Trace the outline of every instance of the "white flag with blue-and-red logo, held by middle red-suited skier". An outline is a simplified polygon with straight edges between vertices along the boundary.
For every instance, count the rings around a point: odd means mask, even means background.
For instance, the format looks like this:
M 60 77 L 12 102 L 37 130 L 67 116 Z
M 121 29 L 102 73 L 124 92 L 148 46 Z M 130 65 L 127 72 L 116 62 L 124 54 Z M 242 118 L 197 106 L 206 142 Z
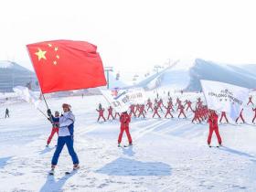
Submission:
M 126 112 L 131 104 L 144 104 L 145 92 L 142 88 L 120 90 L 101 90 L 104 98 L 112 105 L 115 112 Z

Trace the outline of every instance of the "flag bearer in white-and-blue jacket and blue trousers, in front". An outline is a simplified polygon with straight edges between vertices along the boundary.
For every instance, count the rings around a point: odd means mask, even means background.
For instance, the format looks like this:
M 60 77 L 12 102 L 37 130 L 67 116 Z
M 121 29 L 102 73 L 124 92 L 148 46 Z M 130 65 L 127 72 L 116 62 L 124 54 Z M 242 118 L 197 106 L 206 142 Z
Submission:
M 73 161 L 73 170 L 80 168 L 80 161 L 73 147 L 75 116 L 70 111 L 70 107 L 67 103 L 62 104 L 64 113 L 59 117 L 59 138 L 57 148 L 51 160 L 50 174 L 54 173 L 55 167 L 58 164 L 59 155 L 65 144 Z M 50 110 L 48 110 L 48 113 L 50 113 Z

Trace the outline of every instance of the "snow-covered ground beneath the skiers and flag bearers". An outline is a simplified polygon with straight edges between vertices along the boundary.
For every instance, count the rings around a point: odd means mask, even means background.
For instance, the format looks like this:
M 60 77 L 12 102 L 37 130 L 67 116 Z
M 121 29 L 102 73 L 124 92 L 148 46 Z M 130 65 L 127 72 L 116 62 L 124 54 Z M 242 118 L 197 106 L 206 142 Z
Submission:
M 177 95 L 174 95 L 176 99 Z M 178 94 L 196 101 L 196 93 Z M 75 148 L 80 170 L 72 167 L 67 148 L 59 158 L 55 176 L 48 176 L 56 136 L 46 148 L 51 130 L 48 120 L 25 102 L 1 104 L 9 119 L 0 119 L 0 191 L 256 191 L 256 126 L 251 106 L 247 124 L 220 124 L 225 147 L 208 148 L 208 125 L 187 119 L 133 119 L 133 147 L 118 148 L 117 121 L 96 123 L 101 96 L 53 98 L 54 112 L 69 102 L 76 115 Z M 45 112 L 42 103 L 41 109 Z M 162 114 L 162 113 L 161 113 Z M 163 116 L 163 114 L 162 114 Z M 127 144 L 123 134 L 123 144 Z M 216 145 L 213 136 L 212 144 Z

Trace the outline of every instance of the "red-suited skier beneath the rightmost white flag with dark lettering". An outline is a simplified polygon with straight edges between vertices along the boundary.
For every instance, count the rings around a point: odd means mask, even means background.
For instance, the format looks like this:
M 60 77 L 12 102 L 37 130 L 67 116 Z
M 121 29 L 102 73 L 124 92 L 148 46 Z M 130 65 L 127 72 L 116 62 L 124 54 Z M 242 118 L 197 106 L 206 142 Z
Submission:
M 219 126 L 218 126 L 218 114 L 210 110 L 209 116 L 208 116 L 208 124 L 209 124 L 209 133 L 208 133 L 208 146 L 211 147 L 211 136 L 212 133 L 215 132 L 216 136 L 218 138 L 219 146 L 222 144 L 222 140 L 219 134 Z

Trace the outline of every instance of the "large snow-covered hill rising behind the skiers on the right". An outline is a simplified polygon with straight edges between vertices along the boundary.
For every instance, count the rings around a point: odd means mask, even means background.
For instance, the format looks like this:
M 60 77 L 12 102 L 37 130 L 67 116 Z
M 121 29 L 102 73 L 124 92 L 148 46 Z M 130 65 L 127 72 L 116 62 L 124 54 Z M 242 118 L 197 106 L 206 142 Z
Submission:
M 216 80 L 255 89 L 255 72 L 256 65 L 252 64 L 238 67 L 195 59 L 194 63 L 177 63 L 176 67 L 164 69 L 133 87 L 144 87 L 146 90 L 157 88 L 169 91 L 201 91 L 200 80 Z

